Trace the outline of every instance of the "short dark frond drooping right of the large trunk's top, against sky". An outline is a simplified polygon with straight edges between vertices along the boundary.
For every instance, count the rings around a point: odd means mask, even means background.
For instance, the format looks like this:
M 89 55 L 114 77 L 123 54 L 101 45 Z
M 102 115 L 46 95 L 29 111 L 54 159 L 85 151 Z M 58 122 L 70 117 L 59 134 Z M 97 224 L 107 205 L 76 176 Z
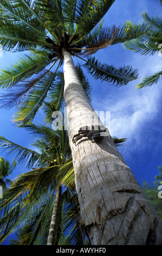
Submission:
M 89 57 L 83 66 L 95 79 L 106 81 L 116 86 L 122 86 L 138 78 L 138 71 L 133 70 L 128 65 L 123 68 L 114 68 L 112 65 L 101 64 L 95 57 Z

